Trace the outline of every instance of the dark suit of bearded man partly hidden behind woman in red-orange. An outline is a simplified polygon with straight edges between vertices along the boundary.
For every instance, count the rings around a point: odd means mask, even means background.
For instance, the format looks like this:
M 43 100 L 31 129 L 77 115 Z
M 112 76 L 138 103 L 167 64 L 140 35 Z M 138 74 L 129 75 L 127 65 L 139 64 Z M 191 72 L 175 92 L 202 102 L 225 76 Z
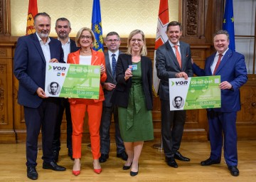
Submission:
M 77 51 L 79 47 L 75 45 L 75 41 L 70 39 L 70 53 Z M 60 98 L 60 112 L 58 114 L 58 120 L 55 126 L 55 132 L 53 137 L 53 152 L 58 155 L 60 151 L 60 125 L 63 120 L 63 112 L 65 109 L 65 118 L 67 121 L 67 148 L 69 149 L 69 154 L 72 156 L 72 120 L 70 113 L 70 103 L 66 98 Z

